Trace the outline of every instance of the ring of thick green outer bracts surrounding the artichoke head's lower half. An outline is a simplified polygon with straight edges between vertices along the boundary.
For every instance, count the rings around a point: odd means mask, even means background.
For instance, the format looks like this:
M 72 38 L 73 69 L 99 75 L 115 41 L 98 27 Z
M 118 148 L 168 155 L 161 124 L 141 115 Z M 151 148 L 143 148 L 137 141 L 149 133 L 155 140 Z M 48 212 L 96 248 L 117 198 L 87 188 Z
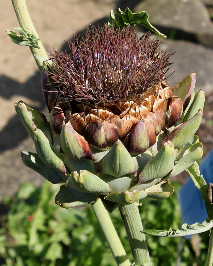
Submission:
M 177 96 L 166 110 L 168 119 L 161 111 L 155 112 L 155 116 L 148 113 L 146 116 L 149 120 L 143 120 L 143 116 L 138 129 L 135 126 L 129 137 L 127 136 L 128 145 L 119 137 L 120 130 L 113 145 L 105 149 L 94 148 L 90 140 L 87 141 L 80 134 L 72 119 L 67 121 L 66 113 L 60 113 L 63 108 L 55 108 L 56 111 L 59 110 L 57 115 L 63 118 L 63 122 L 61 129 L 54 131 L 57 123 L 53 109 L 49 124 L 43 114 L 20 101 L 15 109 L 25 129 L 34 138 L 37 151 L 37 154 L 23 151 L 23 162 L 51 183 L 64 183 L 56 195 L 56 204 L 64 208 L 92 203 L 98 197 L 109 211 L 113 211 L 120 204 L 131 204 L 144 197 L 165 199 L 173 193 L 173 186 L 168 179 L 202 157 L 202 144 L 194 134 L 202 118 L 204 93 L 199 91 L 192 98 L 194 83 L 195 74 L 192 73 L 174 86 Z M 177 99 L 181 99 L 181 105 Z M 178 121 L 171 115 L 172 110 L 177 110 L 177 103 L 180 107 Z M 152 117 L 156 119 L 156 115 L 158 120 L 162 116 L 165 118 L 165 121 L 164 118 L 162 120 L 164 126 L 157 130 L 154 122 L 152 124 Z M 90 119 L 94 117 L 90 116 Z M 173 119 L 176 119 L 176 124 L 169 127 Z M 82 123 L 83 121 L 86 120 L 82 120 Z M 111 126 L 110 115 L 108 121 L 108 126 Z M 146 123 L 149 127 L 145 128 Z M 98 121 L 96 125 L 101 128 Z M 111 129 L 115 132 L 114 127 Z M 107 127 L 101 129 L 98 136 L 104 139 L 106 131 Z M 110 138 L 110 131 L 107 132 L 107 138 Z M 139 153 L 139 150 L 144 152 Z

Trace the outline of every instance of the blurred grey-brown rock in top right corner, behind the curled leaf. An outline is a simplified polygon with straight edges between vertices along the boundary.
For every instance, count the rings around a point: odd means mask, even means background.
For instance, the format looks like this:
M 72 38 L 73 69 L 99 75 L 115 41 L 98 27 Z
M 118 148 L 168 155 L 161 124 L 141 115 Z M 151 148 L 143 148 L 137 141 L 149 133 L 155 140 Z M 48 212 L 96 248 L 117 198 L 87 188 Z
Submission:
M 134 12 L 146 11 L 149 22 L 168 37 L 197 41 L 213 47 L 213 24 L 202 1 L 145 0 Z

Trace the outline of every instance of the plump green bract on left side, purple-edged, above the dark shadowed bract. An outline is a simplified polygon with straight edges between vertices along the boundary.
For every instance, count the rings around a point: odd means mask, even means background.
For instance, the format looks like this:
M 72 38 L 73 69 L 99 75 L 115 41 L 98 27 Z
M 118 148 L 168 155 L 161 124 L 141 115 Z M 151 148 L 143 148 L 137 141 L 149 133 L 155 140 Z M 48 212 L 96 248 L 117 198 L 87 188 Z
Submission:
M 49 167 L 56 168 L 65 174 L 66 169 L 61 156 L 53 148 L 44 133 L 40 129 L 34 131 L 35 149 L 39 158 Z

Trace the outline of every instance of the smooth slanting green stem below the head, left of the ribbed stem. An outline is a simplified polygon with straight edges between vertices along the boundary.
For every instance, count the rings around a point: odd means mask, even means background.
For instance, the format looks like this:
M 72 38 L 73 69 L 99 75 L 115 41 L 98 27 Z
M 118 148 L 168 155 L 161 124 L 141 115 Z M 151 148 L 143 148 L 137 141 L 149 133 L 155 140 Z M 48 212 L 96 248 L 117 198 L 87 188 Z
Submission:
M 103 234 L 108 242 L 111 249 L 113 257 L 119 266 L 130 266 L 131 263 L 126 256 L 126 252 L 121 244 L 118 234 L 113 226 L 110 216 L 103 206 L 100 199 L 97 199 L 92 204 L 92 209 L 94 210 L 95 216 L 100 224 Z

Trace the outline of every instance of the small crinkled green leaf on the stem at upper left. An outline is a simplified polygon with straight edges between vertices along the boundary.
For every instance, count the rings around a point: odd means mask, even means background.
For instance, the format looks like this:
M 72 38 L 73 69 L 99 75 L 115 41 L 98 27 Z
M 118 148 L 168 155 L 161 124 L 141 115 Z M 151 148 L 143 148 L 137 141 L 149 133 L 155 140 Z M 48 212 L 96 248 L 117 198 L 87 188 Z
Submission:
M 9 35 L 11 38 L 12 42 L 21 45 L 21 46 L 29 46 L 33 48 L 38 48 L 38 41 L 40 40 L 39 38 L 36 38 L 35 35 L 30 34 L 27 30 L 24 30 L 23 28 L 16 27 L 14 30 L 17 30 L 20 35 L 15 33 L 13 30 L 6 30 L 6 34 Z

